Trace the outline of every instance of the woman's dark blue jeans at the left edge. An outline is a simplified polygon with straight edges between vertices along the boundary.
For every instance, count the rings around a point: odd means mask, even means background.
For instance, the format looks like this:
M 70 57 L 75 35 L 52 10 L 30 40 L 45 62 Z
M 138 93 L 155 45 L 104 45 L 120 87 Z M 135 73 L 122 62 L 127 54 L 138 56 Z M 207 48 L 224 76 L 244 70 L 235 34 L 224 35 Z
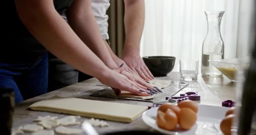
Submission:
M 14 90 L 15 102 L 46 93 L 48 54 L 21 55 L 0 61 L 0 87 Z

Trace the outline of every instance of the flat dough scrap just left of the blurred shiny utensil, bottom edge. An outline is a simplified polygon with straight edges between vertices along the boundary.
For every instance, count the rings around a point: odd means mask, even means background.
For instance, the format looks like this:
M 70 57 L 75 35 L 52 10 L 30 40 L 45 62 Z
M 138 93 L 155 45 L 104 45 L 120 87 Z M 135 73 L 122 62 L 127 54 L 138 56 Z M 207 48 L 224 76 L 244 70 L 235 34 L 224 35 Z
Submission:
M 83 130 L 82 129 L 66 128 L 61 125 L 55 129 L 55 132 L 57 134 L 62 134 L 62 135 L 76 135 L 76 134 L 82 134 Z

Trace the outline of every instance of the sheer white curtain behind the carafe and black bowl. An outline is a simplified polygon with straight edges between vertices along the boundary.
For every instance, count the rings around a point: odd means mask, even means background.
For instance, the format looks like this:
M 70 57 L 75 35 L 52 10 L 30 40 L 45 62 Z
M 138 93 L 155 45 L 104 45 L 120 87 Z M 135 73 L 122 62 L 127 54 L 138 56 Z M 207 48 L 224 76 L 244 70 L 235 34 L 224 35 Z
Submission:
M 180 59 L 198 59 L 200 72 L 207 34 L 204 11 L 214 10 L 225 11 L 220 26 L 224 58 L 236 58 L 239 5 L 240 0 L 145 0 L 141 56 L 174 56 L 173 71 L 179 71 Z

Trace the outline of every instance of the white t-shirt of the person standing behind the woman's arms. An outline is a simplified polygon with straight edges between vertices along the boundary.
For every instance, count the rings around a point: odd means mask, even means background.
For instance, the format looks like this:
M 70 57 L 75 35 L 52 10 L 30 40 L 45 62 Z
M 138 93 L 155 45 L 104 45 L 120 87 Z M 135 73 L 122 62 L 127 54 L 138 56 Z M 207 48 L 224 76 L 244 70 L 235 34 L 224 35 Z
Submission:
M 99 31 L 101 32 L 102 39 L 104 40 L 109 39 L 108 15 L 106 14 L 106 11 L 108 10 L 109 6 L 109 0 L 92 0 L 92 13 L 95 16 Z M 65 13 L 63 13 L 62 17 L 67 21 Z

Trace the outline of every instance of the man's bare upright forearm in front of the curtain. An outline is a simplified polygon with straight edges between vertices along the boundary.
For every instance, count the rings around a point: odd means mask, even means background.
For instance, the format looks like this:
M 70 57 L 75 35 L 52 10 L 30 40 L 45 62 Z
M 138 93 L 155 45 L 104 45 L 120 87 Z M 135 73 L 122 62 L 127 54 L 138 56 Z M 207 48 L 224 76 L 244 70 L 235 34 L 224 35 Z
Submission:
M 145 19 L 144 0 L 125 0 L 125 48 L 128 53 L 139 54 Z

